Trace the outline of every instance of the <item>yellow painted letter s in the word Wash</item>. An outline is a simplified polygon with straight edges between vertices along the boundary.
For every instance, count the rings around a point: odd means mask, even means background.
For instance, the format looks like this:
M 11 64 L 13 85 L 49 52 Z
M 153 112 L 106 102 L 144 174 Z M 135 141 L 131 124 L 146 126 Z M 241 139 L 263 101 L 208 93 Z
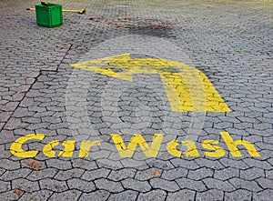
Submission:
M 226 155 L 226 151 L 224 148 L 221 146 L 213 146 L 217 145 L 219 142 L 217 140 L 205 140 L 202 142 L 202 146 L 206 148 L 207 150 L 211 151 L 206 151 L 204 152 L 204 156 L 209 156 L 209 157 L 222 157 Z

